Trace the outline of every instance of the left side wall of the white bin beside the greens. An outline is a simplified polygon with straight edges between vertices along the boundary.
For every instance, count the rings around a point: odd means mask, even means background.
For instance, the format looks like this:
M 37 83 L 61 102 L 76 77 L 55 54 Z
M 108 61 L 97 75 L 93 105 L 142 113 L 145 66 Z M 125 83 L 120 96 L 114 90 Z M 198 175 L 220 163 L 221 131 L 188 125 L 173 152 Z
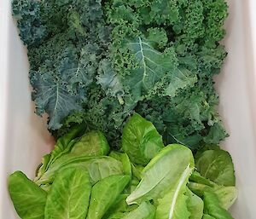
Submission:
M 9 13 L 9 1 L 0 0 L 0 219 L 15 219 L 7 193 L 7 176 L 22 170 L 34 176 L 51 138 L 42 118 L 34 114 L 27 78 L 26 50 Z

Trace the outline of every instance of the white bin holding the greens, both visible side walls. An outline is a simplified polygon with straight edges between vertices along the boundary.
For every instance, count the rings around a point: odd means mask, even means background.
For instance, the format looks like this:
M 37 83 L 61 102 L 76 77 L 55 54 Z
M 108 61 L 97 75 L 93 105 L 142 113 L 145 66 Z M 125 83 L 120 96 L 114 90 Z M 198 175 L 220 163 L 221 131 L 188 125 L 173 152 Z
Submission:
M 255 219 L 256 3 L 229 2 L 228 34 L 224 41 L 229 56 L 217 78 L 219 111 L 230 132 L 224 147 L 236 165 L 239 199 L 232 209 L 233 215 L 236 219 Z M 18 217 L 6 190 L 7 176 L 15 170 L 33 176 L 40 158 L 49 151 L 51 139 L 42 119 L 33 113 L 26 50 L 11 19 L 8 0 L 0 0 L 0 30 L 0 219 L 15 219 Z

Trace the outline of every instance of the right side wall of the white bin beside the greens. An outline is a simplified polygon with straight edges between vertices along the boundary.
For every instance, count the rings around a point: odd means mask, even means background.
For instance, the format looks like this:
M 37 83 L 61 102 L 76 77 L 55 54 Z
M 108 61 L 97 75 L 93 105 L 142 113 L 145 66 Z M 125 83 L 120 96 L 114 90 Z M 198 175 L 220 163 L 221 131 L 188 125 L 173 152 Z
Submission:
M 256 8 L 255 0 L 229 2 L 230 17 L 226 22 L 228 34 L 224 41 L 229 56 L 217 80 L 219 112 L 230 132 L 230 138 L 224 142 L 224 146 L 234 160 L 239 189 L 239 197 L 232 211 L 236 219 L 255 219 Z

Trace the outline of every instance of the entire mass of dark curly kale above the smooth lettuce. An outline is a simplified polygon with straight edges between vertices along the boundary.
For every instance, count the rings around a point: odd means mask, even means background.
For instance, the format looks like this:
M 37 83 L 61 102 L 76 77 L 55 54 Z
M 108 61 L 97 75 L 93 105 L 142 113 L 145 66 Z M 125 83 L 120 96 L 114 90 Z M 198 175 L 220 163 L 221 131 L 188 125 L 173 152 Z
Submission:
M 192 149 L 227 133 L 212 77 L 226 52 L 224 0 L 13 0 L 32 100 L 60 137 L 76 124 L 120 146 L 140 113 L 165 144 Z

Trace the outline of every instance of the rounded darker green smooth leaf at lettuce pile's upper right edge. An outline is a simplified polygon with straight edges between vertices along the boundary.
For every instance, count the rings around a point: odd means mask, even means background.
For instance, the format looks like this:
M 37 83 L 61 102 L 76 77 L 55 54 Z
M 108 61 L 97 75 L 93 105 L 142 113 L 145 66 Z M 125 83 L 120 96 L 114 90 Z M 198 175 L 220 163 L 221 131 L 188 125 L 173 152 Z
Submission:
M 224 150 L 207 150 L 195 158 L 195 167 L 201 176 L 219 185 L 235 186 L 236 177 L 230 153 Z

